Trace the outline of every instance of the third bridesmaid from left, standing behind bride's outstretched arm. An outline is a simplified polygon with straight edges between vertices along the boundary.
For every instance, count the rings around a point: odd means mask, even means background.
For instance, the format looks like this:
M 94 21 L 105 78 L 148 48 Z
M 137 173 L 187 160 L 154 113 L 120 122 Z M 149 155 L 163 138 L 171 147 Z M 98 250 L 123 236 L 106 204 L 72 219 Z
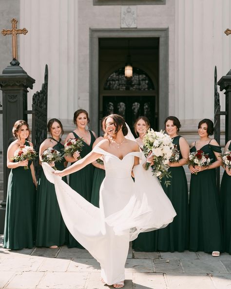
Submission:
M 96 140 L 95 132 L 86 128 L 89 122 L 88 112 L 84 109 L 78 109 L 74 113 L 74 124 L 76 124 L 76 128 L 73 132 L 68 134 L 65 140 L 66 142 L 69 138 L 83 139 L 83 147 L 80 152 L 81 158 L 84 158 L 92 151 L 92 146 Z M 75 163 L 78 156 L 79 153 L 75 152 L 73 156 L 67 156 L 66 160 L 70 163 Z M 94 169 L 95 167 L 90 164 L 83 169 L 70 174 L 69 177 L 69 186 L 83 196 L 88 202 L 91 202 Z M 68 233 L 67 246 L 68 248 L 83 248 L 70 233 Z

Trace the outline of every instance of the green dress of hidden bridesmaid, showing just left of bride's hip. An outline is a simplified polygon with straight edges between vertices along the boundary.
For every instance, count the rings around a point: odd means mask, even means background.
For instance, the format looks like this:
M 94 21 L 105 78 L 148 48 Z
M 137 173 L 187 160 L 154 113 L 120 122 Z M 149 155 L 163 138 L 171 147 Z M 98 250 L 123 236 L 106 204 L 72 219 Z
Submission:
M 99 167 L 95 167 L 92 185 L 91 203 L 97 207 L 99 207 L 99 190 L 104 178 L 105 178 L 105 170 Z

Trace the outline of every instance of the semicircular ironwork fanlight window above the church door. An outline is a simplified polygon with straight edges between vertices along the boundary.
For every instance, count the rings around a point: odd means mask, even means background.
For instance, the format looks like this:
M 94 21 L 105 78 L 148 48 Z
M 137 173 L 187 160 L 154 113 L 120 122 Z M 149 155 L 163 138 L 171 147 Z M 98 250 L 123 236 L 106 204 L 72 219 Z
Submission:
M 132 79 L 124 76 L 124 67 L 114 71 L 106 80 L 104 90 L 154 90 L 152 79 L 143 70 L 133 67 Z

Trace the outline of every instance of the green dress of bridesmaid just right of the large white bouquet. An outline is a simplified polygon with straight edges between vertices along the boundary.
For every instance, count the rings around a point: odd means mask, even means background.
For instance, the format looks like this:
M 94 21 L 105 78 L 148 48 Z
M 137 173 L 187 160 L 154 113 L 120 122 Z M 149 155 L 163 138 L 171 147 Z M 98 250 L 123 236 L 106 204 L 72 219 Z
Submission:
M 180 151 L 179 140 L 181 136 L 173 138 L 173 144 Z M 180 153 L 180 159 L 182 155 Z M 163 229 L 157 231 L 158 251 L 183 252 L 188 248 L 189 242 L 189 194 L 188 185 L 183 166 L 173 166 L 169 168 L 172 178 L 171 185 L 165 186 L 161 183 L 163 190 L 173 204 L 176 216 L 173 222 Z

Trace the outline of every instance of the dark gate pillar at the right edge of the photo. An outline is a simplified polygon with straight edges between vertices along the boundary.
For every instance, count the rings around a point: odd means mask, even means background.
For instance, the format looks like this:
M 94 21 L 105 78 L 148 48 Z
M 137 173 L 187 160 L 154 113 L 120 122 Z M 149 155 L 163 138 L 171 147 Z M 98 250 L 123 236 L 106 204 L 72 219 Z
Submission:
M 231 70 L 217 83 L 220 90 L 225 89 L 225 143 L 231 140 Z

